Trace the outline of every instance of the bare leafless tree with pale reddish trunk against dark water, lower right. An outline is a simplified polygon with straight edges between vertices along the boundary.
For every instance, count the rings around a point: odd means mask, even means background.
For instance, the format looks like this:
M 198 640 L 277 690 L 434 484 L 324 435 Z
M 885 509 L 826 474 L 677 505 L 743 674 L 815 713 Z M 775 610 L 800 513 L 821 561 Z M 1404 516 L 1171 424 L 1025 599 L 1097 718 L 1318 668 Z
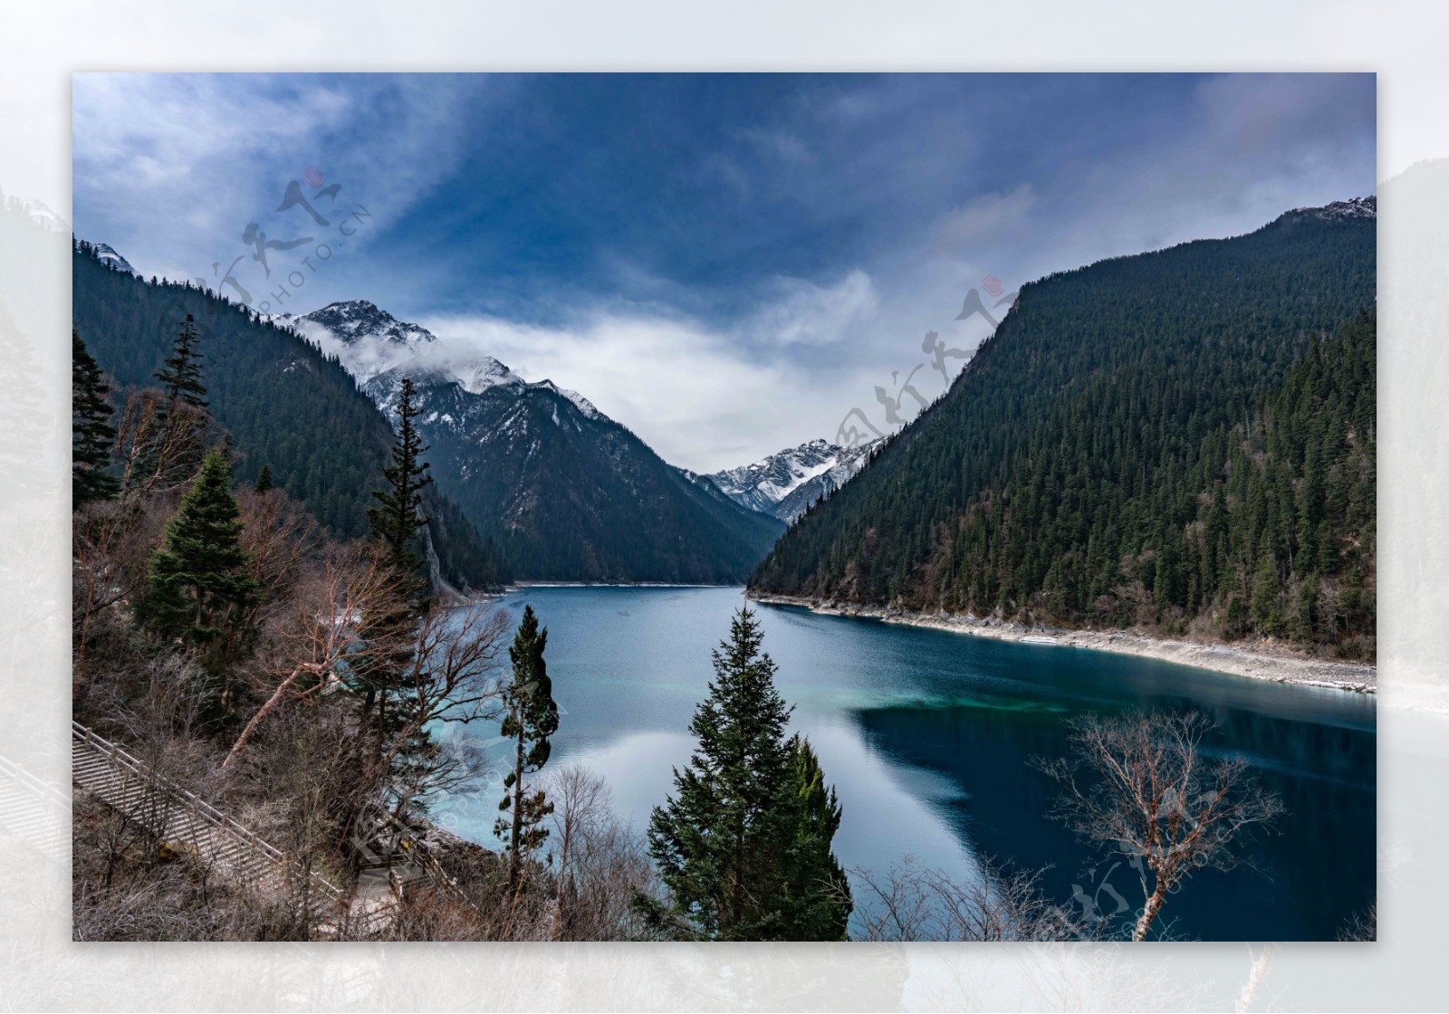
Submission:
M 1248 762 L 1210 762 L 1200 750 L 1216 724 L 1200 711 L 1088 716 L 1072 723 L 1074 756 L 1033 766 L 1062 785 L 1052 816 L 1137 869 L 1143 940 L 1169 892 L 1204 868 L 1245 863 L 1243 840 L 1282 813 Z

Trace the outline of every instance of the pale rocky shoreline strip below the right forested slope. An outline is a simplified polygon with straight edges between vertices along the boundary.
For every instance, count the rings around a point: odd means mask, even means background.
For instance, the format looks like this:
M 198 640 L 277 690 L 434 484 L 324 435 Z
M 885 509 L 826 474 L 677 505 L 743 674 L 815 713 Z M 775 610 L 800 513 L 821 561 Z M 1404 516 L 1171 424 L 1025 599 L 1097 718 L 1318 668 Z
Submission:
M 1140 655 L 1191 665 L 1198 669 L 1226 672 L 1252 679 L 1269 679 L 1279 684 L 1301 687 L 1326 687 L 1356 694 L 1378 692 L 1378 668 L 1358 662 L 1335 662 L 1317 659 L 1278 646 L 1255 649 L 1235 645 L 1213 645 L 1190 640 L 1166 640 L 1149 637 L 1132 630 L 1062 630 L 1058 627 L 1029 627 L 997 619 L 955 616 L 949 613 L 910 613 L 852 603 L 819 601 L 793 595 L 749 595 L 764 606 L 803 606 L 824 616 L 858 616 L 878 619 L 885 623 L 904 623 L 914 627 L 951 630 L 978 637 L 998 640 L 1020 640 L 1037 645 L 1061 645 L 1065 648 L 1087 648 L 1097 652 L 1119 655 Z

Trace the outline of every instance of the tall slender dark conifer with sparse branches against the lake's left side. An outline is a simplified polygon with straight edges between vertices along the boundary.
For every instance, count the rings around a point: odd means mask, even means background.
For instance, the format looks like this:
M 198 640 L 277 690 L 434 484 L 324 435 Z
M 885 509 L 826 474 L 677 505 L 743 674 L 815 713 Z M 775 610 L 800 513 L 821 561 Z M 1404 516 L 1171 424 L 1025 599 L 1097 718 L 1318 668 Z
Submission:
M 548 763 L 548 737 L 558 732 L 558 705 L 554 703 L 554 682 L 548 676 L 543 649 L 548 629 L 539 629 L 532 606 L 523 607 L 523 620 L 509 648 L 513 678 L 503 691 L 504 717 L 500 734 L 516 743 L 513 771 L 503 779 L 504 795 L 498 810 L 511 811 L 510 818 L 498 818 L 494 831 L 509 846 L 509 887 L 516 889 L 527 853 L 548 837 L 543 818 L 554 813 L 554 804 L 542 789 L 530 792 L 525 775 L 535 774 Z

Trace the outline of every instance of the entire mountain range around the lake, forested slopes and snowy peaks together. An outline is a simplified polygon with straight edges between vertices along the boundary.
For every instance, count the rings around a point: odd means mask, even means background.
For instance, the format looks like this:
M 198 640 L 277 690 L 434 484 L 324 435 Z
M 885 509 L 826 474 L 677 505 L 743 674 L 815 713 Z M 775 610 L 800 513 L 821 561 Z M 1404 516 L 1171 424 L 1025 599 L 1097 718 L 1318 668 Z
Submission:
M 1372 636 L 1372 316 L 1342 329 L 1374 304 L 1375 213 L 1374 197 L 1294 209 L 1248 236 L 1030 282 L 894 437 L 711 474 L 365 300 L 258 319 L 77 243 L 74 319 L 136 385 L 194 313 L 239 478 L 270 465 L 343 536 L 365 529 L 384 419 L 413 380 L 438 491 L 429 552 L 455 584 L 753 572 L 759 594 L 1065 624 L 1321 640 L 1327 616 L 1348 650 L 1345 632 Z

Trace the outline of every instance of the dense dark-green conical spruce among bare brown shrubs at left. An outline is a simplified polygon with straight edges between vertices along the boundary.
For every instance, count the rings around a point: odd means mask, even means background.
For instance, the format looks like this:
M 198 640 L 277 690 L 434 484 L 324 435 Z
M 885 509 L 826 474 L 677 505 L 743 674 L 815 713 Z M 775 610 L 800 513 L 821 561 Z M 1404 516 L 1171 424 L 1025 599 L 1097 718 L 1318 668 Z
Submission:
M 212 451 L 151 556 L 141 617 L 162 637 L 214 649 L 256 592 L 230 484 L 230 465 Z

